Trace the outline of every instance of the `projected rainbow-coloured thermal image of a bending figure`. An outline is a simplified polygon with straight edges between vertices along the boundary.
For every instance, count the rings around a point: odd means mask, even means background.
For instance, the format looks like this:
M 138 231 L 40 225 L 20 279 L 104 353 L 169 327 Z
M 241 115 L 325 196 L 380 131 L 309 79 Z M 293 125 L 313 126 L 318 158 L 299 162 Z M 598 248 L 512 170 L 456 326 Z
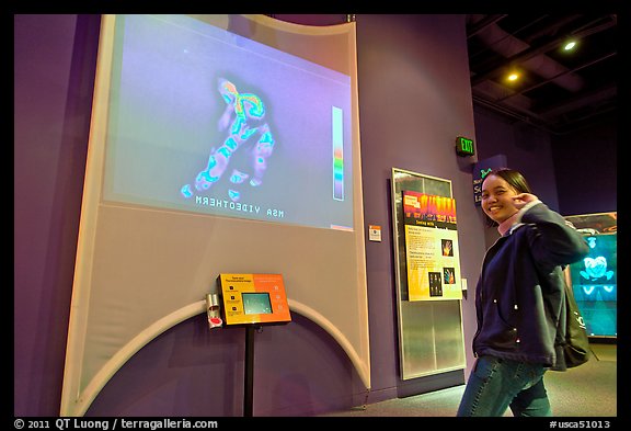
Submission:
M 219 131 L 226 134 L 223 144 L 219 148 L 211 148 L 208 165 L 195 178 L 193 185 L 186 184 L 181 189 L 184 197 L 192 197 L 196 193 L 205 192 L 225 177 L 237 151 L 246 151 L 245 169 L 232 168 L 227 181 L 230 182 L 228 194 L 231 201 L 241 199 L 239 191 L 242 184 L 249 183 L 256 188 L 263 183 L 263 175 L 267 169 L 267 158 L 274 151 L 274 138 L 269 126 L 264 122 L 265 105 L 256 94 L 240 93 L 237 87 L 220 79 L 218 91 L 226 102 L 226 109 L 219 118 Z M 254 140 L 253 139 L 257 139 Z M 245 143 L 254 143 L 245 147 Z

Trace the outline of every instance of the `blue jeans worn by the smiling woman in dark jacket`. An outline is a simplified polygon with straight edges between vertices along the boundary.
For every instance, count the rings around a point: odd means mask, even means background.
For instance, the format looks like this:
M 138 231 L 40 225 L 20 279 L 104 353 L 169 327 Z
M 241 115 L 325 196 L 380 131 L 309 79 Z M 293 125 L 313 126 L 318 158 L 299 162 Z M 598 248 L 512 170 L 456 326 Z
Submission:
M 495 356 L 480 356 L 467 382 L 457 416 L 552 416 L 543 386 L 546 367 Z

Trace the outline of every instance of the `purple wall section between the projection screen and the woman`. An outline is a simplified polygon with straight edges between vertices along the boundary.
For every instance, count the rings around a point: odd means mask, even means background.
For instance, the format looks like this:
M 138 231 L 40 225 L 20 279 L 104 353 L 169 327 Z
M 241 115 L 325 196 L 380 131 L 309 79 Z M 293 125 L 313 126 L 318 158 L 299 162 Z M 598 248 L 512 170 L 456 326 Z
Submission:
M 436 388 L 436 377 L 402 382 L 391 236 L 392 168 L 449 179 L 458 205 L 461 274 L 473 280 L 484 253 L 470 167 L 455 154 L 457 136 L 473 136 L 463 15 L 358 15 L 359 124 L 365 224 L 382 227 L 366 243 L 375 400 Z M 468 361 L 472 300 L 463 300 Z M 445 376 L 444 387 L 455 381 Z

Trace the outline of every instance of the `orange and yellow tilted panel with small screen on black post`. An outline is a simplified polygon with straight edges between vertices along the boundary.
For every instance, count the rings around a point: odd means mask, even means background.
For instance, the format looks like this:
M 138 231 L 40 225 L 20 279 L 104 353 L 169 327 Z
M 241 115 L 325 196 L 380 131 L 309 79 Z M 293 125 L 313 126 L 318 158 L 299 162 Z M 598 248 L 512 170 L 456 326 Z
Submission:
M 291 321 L 282 274 L 220 274 L 226 325 Z

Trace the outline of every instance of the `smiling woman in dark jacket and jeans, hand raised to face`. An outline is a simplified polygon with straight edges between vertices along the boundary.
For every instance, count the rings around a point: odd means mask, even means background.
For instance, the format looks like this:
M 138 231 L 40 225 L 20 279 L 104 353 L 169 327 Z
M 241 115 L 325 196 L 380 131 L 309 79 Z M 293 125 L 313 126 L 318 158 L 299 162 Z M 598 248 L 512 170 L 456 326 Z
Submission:
M 458 416 L 551 416 L 543 376 L 565 370 L 562 268 L 588 252 L 561 215 L 531 193 L 520 172 L 491 171 L 482 209 L 502 235 L 486 251 L 475 288 L 477 361 Z

